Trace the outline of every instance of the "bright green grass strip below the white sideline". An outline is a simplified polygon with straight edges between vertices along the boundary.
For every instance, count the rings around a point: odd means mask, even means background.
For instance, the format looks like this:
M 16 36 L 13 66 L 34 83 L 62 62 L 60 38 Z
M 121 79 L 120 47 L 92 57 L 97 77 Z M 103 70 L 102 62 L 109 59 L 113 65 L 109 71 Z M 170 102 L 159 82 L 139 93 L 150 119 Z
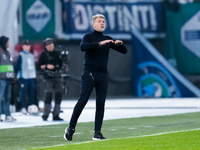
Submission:
M 200 130 L 163 135 L 104 140 L 52 147 L 51 150 L 199 150 Z M 49 148 L 44 148 L 46 150 Z

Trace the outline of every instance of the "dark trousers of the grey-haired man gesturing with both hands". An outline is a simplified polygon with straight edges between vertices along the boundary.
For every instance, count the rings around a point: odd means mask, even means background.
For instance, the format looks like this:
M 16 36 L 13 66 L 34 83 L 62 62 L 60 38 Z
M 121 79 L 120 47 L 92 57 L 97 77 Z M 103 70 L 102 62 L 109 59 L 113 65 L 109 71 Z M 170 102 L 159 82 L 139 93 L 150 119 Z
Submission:
M 88 102 L 88 99 L 95 88 L 96 92 L 96 114 L 95 114 L 95 131 L 101 131 L 105 99 L 108 90 L 108 73 L 83 71 L 81 80 L 81 93 L 74 107 L 74 111 L 70 120 L 70 127 L 77 124 L 78 118 Z

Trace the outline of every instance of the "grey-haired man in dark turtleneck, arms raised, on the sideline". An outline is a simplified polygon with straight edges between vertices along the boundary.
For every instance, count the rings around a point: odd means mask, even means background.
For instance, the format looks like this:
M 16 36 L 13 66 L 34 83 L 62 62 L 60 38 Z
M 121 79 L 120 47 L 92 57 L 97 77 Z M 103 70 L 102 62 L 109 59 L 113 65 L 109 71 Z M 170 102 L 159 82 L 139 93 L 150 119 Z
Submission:
M 104 117 L 105 99 L 108 89 L 108 56 L 110 48 L 120 53 L 127 53 L 127 48 L 121 40 L 114 40 L 103 34 L 105 30 L 104 15 L 97 14 L 92 17 L 93 32 L 84 35 L 80 49 L 85 52 L 84 70 L 81 75 L 81 93 L 74 107 L 69 122 L 65 129 L 64 139 L 72 140 L 79 116 L 95 88 L 96 91 L 96 115 L 93 140 L 106 139 L 101 133 Z

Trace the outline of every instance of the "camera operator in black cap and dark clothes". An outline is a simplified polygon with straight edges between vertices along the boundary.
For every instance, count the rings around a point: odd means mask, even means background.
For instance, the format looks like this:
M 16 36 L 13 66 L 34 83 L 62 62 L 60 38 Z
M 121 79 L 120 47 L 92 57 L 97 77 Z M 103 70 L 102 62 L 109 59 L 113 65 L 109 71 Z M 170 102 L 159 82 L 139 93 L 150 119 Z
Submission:
M 38 70 L 42 71 L 45 82 L 45 104 L 43 121 L 47 121 L 51 112 L 51 101 L 53 93 L 55 93 L 55 106 L 53 110 L 53 120 L 63 121 L 59 117 L 60 104 L 62 100 L 62 77 L 59 70 L 62 68 L 62 60 L 60 51 L 55 50 L 53 39 L 47 38 L 43 41 L 44 50 L 39 57 L 37 64 Z

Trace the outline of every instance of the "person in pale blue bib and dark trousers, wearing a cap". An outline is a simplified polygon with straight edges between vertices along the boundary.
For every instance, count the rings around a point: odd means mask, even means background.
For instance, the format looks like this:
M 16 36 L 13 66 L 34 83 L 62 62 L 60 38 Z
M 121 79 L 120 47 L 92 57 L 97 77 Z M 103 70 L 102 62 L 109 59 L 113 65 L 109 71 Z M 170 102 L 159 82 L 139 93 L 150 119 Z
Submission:
M 20 110 L 27 114 L 28 106 L 35 105 L 35 79 L 36 67 L 34 56 L 30 53 L 31 43 L 29 40 L 22 42 L 22 51 L 19 53 L 14 65 L 17 78 L 19 79 Z M 28 106 L 26 107 L 26 95 L 28 95 Z

